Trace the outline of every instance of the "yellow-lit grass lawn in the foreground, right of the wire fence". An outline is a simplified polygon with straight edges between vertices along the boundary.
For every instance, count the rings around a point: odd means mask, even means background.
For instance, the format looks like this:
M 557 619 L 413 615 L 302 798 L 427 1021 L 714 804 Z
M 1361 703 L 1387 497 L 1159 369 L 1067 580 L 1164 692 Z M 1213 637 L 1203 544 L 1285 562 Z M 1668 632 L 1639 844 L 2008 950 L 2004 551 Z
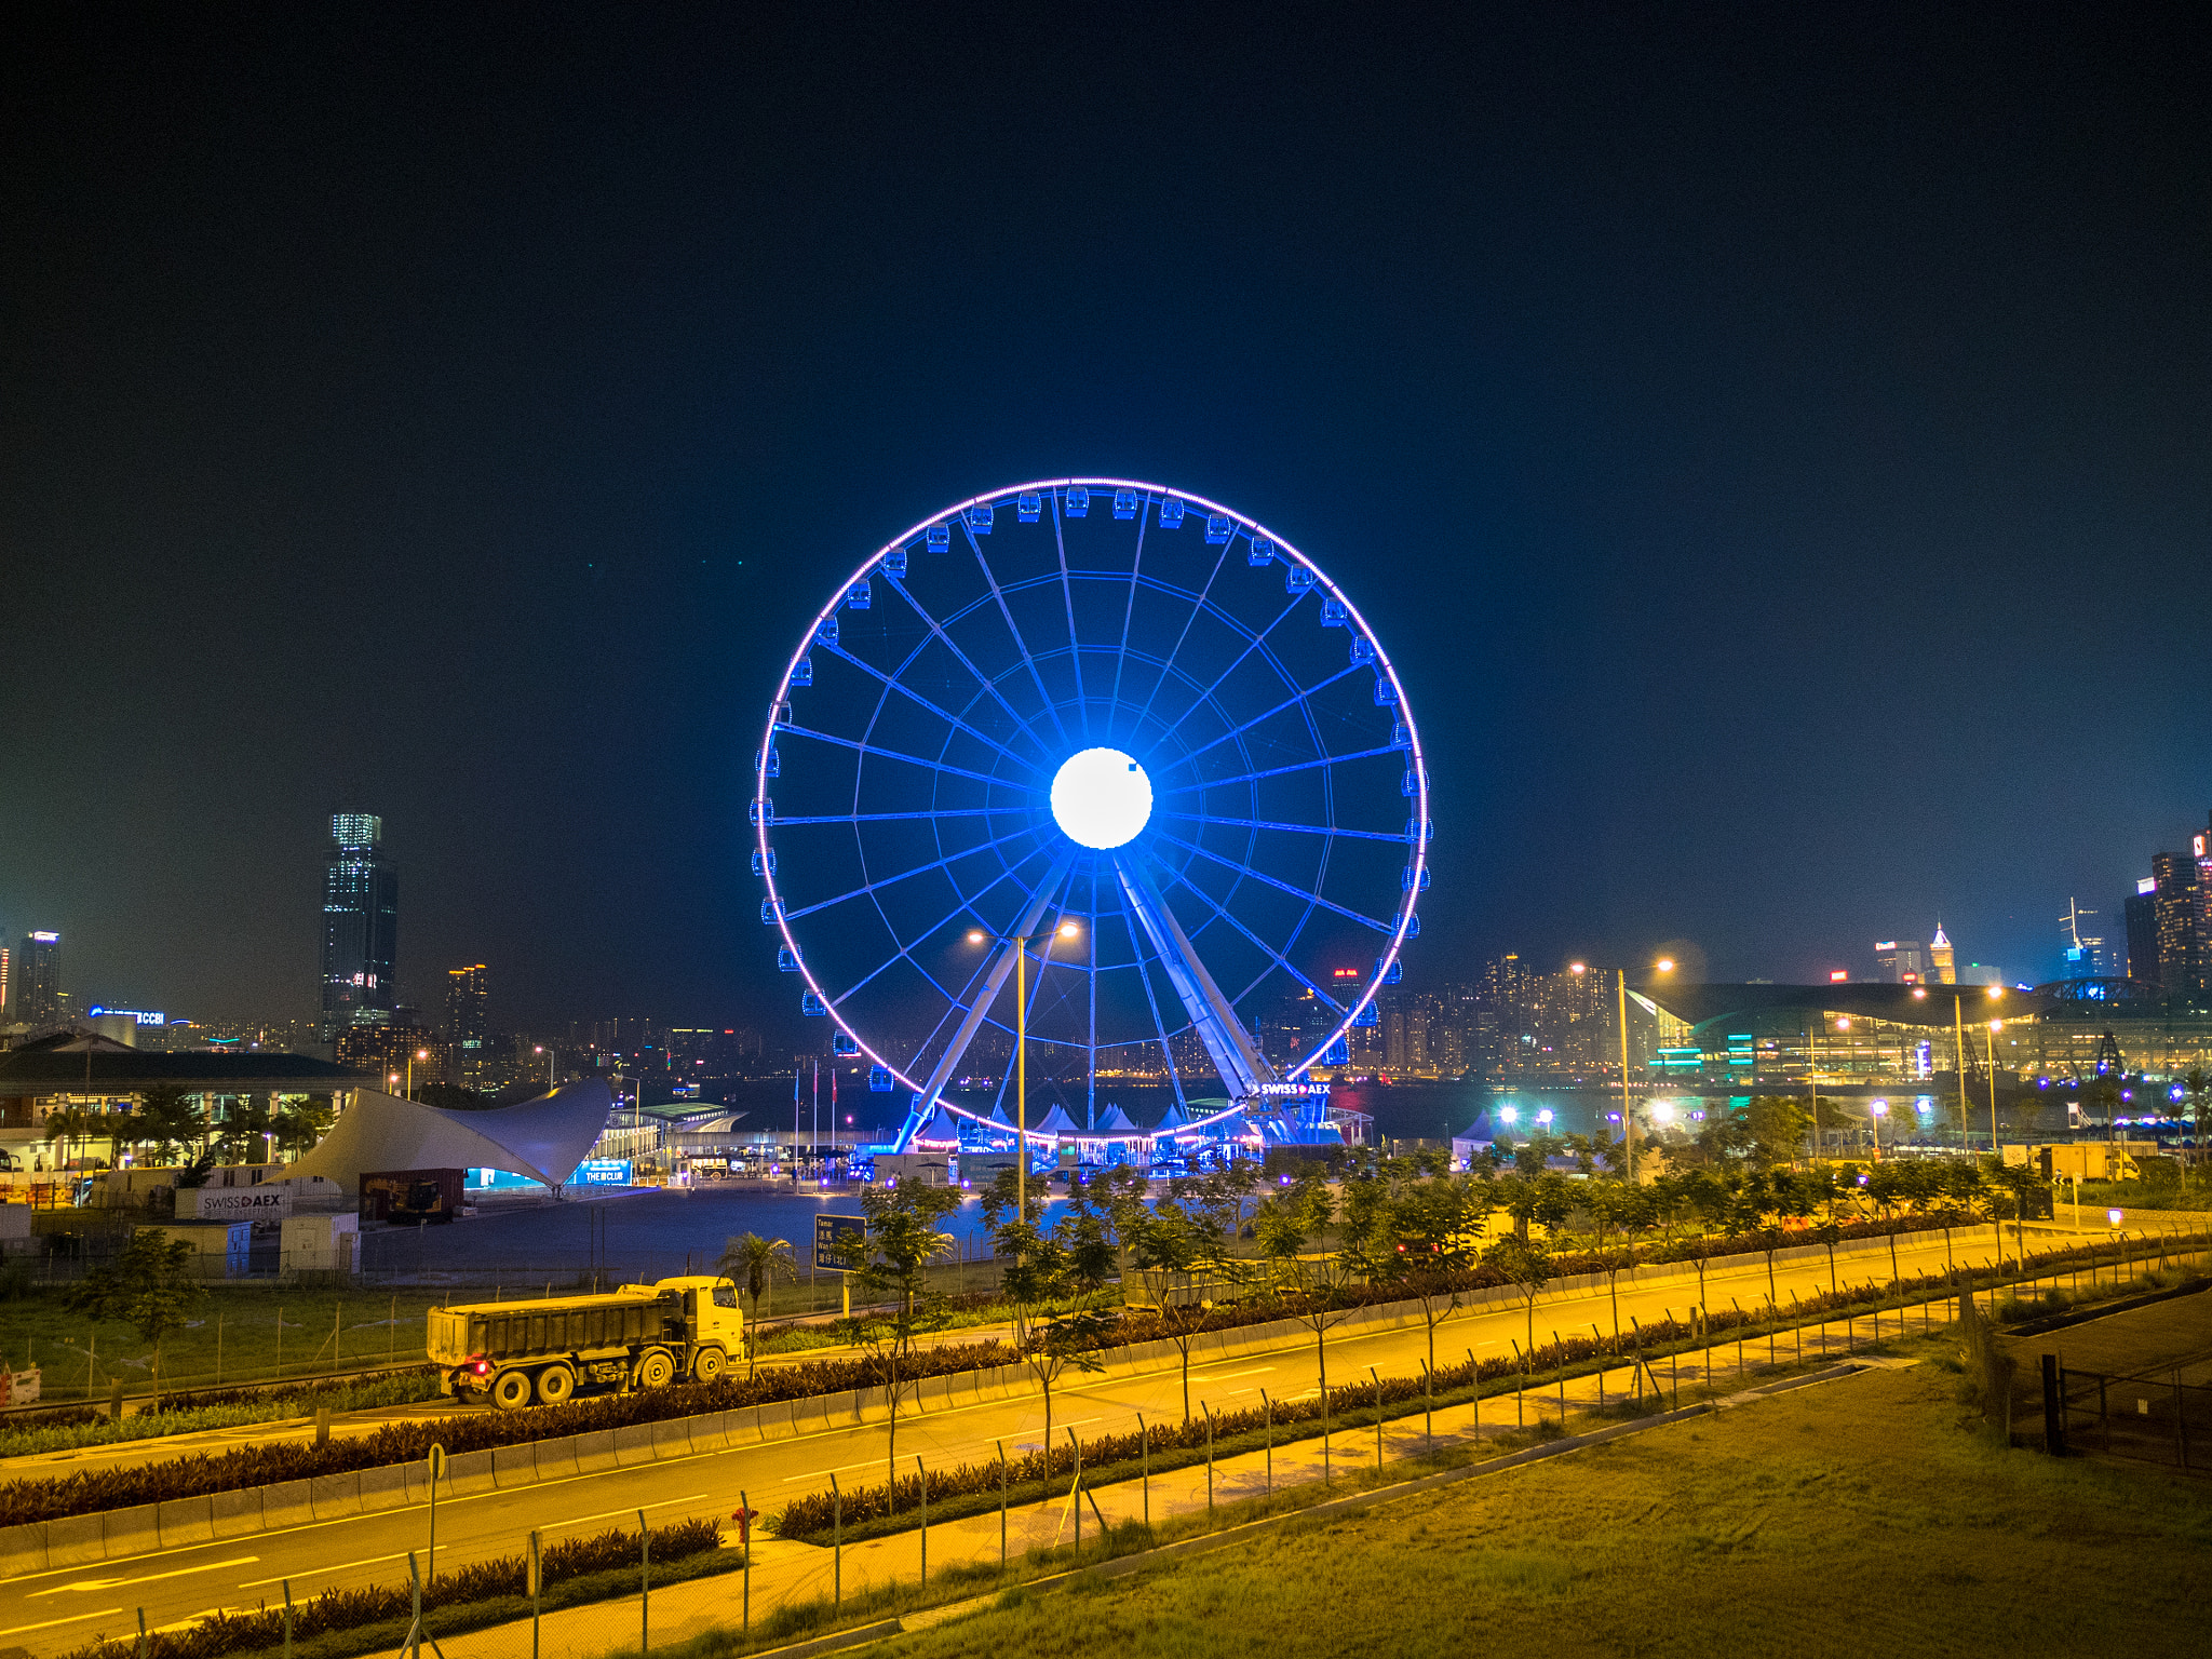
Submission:
M 2000 1451 L 1920 1365 L 998 1606 L 900 1655 L 2201 1655 L 2212 1482 Z

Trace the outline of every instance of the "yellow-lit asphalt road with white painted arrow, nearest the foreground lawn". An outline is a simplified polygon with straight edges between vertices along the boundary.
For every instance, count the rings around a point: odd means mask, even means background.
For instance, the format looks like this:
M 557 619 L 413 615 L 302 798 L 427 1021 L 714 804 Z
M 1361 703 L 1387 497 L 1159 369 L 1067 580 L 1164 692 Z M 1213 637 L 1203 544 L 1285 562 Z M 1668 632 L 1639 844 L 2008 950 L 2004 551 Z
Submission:
M 1958 1234 L 1953 1248 L 1962 1263 L 1980 1261 L 1991 1252 L 1991 1234 L 1986 1228 Z M 1845 1279 L 1856 1270 L 1860 1281 L 1869 1276 L 1887 1281 L 1887 1250 L 1878 1256 L 1843 1256 Z M 1898 1261 L 1907 1274 L 1940 1270 L 1942 1234 L 1924 1237 L 1909 1248 L 1900 1245 Z M 1827 1290 L 1827 1259 L 1783 1263 L 1774 1279 L 1783 1301 Z M 1708 1274 L 1708 1303 L 1714 1307 L 1725 1307 L 1730 1298 L 1750 1307 L 1765 1294 L 1767 1270 L 1761 1261 L 1739 1261 L 1725 1272 Z M 1652 1287 L 1624 1287 L 1621 1325 L 1626 1327 L 1630 1314 L 1644 1321 L 1661 1318 L 1666 1312 L 1681 1314 L 1694 1296 L 1694 1276 Z M 1546 1301 L 1535 1312 L 1540 1343 L 1548 1340 L 1553 1329 L 1586 1332 L 1593 1323 L 1613 1329 L 1610 1298 L 1604 1290 Z M 1524 1340 L 1524 1332 L 1526 1316 L 1517 1307 L 1455 1314 L 1438 1329 L 1438 1358 L 1464 1356 L 1469 1349 L 1478 1356 L 1511 1354 L 1509 1343 Z M 1329 1378 L 1332 1383 L 1363 1378 L 1367 1367 L 1385 1376 L 1418 1376 L 1427 1352 L 1422 1327 L 1332 1340 Z M 1725 1363 L 1723 1358 L 1721 1365 Z M 1177 1369 L 1099 1385 L 1071 1380 L 1077 1387 L 1055 1389 L 1055 1438 L 1064 1438 L 1068 1427 L 1086 1438 L 1128 1431 L 1137 1427 L 1139 1411 L 1155 1422 L 1179 1420 L 1183 1411 Z M 1626 1376 L 1621 1380 L 1626 1383 Z M 1199 1367 L 1190 1376 L 1192 1409 L 1201 1400 L 1214 1407 L 1256 1405 L 1261 1389 L 1274 1398 L 1312 1394 L 1316 1389 L 1312 1343 Z M 982 1462 L 998 1455 L 998 1440 L 1009 1449 L 1033 1447 L 1042 1433 L 1040 1396 L 995 1400 L 902 1418 L 898 1455 L 907 1471 L 916 1453 L 931 1464 Z M 655 1524 L 686 1515 L 728 1517 L 743 1491 L 754 1509 L 776 1513 L 799 1493 L 827 1491 L 832 1473 L 847 1486 L 880 1480 L 887 1449 L 887 1429 L 876 1422 L 518 1491 L 440 1500 L 438 1566 L 449 1571 L 462 1562 L 520 1553 L 533 1526 L 551 1542 L 560 1535 L 635 1524 L 639 1506 Z M 126 1628 L 135 1632 L 137 1608 L 146 1610 L 153 1628 L 181 1624 L 215 1608 L 252 1608 L 263 1599 L 281 1599 L 281 1584 L 288 1577 L 294 1597 L 332 1586 L 405 1582 L 407 1551 L 425 1551 L 427 1544 L 427 1506 L 414 1506 L 7 1579 L 0 1582 L 0 1648 L 49 1655 L 77 1648 L 100 1632 L 117 1635 Z

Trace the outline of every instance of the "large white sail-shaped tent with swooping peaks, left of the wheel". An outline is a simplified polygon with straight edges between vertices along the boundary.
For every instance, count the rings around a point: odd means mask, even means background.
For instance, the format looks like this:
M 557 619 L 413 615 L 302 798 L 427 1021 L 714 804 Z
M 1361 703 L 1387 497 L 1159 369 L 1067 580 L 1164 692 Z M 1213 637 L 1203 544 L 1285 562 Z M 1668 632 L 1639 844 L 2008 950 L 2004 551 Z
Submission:
M 361 1177 L 376 1170 L 507 1170 L 557 1188 L 591 1152 L 613 1108 L 615 1097 L 597 1079 L 482 1113 L 449 1113 L 363 1088 L 285 1177 L 321 1175 L 349 1197 L 361 1197 Z

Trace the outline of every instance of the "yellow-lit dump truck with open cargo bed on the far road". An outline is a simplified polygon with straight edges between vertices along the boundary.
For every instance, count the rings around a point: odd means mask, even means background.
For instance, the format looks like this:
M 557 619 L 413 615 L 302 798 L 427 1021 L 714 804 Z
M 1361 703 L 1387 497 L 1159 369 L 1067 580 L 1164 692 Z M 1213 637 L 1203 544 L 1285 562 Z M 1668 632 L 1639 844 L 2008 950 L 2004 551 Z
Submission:
M 602 1296 L 429 1310 L 429 1360 L 456 1398 L 502 1411 L 560 1405 L 577 1389 L 712 1383 L 743 1354 L 745 1314 L 728 1279 L 661 1279 Z

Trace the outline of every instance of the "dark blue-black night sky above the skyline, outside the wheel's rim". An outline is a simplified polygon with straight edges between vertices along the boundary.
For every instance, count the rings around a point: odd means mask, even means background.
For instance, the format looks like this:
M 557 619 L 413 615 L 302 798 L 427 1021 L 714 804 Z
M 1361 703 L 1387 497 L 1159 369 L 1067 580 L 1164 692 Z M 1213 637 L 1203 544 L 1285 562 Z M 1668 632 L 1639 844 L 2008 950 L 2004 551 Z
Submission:
M 0 925 L 301 1015 L 378 812 L 405 995 L 774 1026 L 799 628 L 1097 471 L 1394 650 L 1409 980 L 1867 973 L 1938 914 L 2051 978 L 2212 807 L 2201 18 L 18 13 Z

